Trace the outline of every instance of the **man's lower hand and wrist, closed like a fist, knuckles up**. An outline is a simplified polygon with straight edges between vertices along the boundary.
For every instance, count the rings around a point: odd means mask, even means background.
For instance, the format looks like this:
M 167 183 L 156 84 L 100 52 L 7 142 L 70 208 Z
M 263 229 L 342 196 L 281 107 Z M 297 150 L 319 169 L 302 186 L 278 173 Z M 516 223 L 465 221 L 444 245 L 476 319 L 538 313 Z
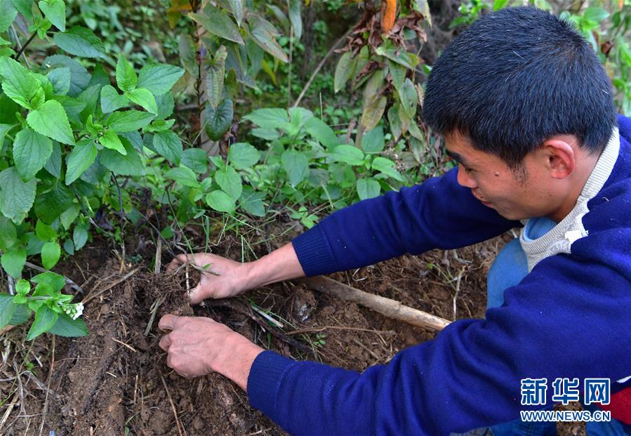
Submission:
M 218 372 L 246 390 L 254 359 L 263 348 L 210 318 L 164 315 L 158 326 L 171 331 L 159 345 L 168 352 L 167 366 L 180 376 Z

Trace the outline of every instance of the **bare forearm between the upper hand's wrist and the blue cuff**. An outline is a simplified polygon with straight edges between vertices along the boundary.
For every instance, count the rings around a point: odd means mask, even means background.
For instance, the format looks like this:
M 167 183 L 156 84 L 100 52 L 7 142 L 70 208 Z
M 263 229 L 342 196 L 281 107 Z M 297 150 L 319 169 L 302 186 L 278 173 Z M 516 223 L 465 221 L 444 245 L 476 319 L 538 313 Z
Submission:
M 305 277 L 305 272 L 290 242 L 248 264 L 247 277 L 248 289 L 252 289 L 256 286 Z

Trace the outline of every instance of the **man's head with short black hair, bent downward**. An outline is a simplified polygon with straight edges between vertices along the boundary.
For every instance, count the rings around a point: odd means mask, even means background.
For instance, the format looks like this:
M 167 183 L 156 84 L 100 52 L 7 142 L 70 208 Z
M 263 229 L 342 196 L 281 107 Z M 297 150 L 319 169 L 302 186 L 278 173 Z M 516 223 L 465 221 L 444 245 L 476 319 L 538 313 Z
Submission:
M 585 183 L 616 126 L 612 93 L 568 22 L 507 8 L 444 50 L 427 81 L 423 118 L 444 135 L 458 181 L 477 198 L 507 218 L 563 218 L 559 208 L 576 202 L 576 183 Z

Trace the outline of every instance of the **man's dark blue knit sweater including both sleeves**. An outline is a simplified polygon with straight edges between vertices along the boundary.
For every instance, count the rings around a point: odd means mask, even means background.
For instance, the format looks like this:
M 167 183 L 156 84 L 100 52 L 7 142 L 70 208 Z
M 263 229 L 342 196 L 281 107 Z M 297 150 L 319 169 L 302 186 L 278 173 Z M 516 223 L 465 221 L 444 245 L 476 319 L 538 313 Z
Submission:
M 512 421 L 521 379 L 631 374 L 631 120 L 620 151 L 587 202 L 571 253 L 538 262 L 485 319 L 461 319 L 433 341 L 363 373 L 265 351 L 248 397 L 292 435 L 448 435 Z M 615 158 L 614 158 L 615 159 Z M 518 227 L 472 197 L 456 170 L 347 207 L 294 239 L 307 275 L 404 253 L 455 249 Z

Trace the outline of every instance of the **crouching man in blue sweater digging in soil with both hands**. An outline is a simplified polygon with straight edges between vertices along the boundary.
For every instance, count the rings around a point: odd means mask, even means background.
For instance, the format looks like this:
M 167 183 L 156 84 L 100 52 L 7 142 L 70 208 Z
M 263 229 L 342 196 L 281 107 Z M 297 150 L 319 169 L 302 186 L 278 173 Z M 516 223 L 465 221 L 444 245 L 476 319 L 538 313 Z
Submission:
M 612 93 L 568 23 L 536 8 L 481 18 L 445 49 L 425 93 L 423 117 L 458 169 L 333 213 L 253 263 L 197 255 L 219 276 L 204 275 L 191 301 L 525 224 L 491 268 L 485 319 L 453 322 L 359 374 L 264 351 L 211 319 L 166 315 L 168 366 L 231 378 L 293 435 L 526 434 L 519 411 L 550 407 L 556 378 L 578 378 L 587 402 L 585 378 L 603 378 L 602 408 L 618 420 L 605 430 L 631 434 L 631 120 L 616 117 Z M 544 378 L 543 398 L 524 401 L 522 382 Z

